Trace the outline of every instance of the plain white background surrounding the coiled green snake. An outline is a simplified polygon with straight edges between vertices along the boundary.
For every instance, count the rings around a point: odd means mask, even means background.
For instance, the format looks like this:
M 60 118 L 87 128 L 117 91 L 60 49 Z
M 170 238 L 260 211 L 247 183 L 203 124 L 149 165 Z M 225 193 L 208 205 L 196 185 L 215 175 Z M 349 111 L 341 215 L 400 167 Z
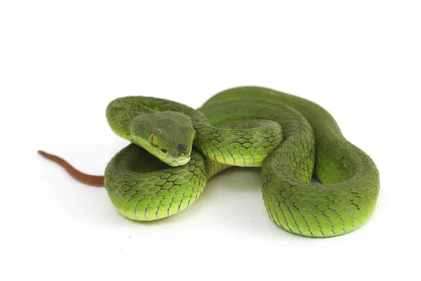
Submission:
M 1 1 L 1 280 L 420 280 L 419 1 Z M 380 170 L 375 213 L 311 239 L 267 216 L 259 169 L 181 214 L 119 215 L 43 149 L 103 174 L 128 95 L 200 107 L 267 86 L 314 100 Z M 416 255 L 416 256 L 413 256 Z

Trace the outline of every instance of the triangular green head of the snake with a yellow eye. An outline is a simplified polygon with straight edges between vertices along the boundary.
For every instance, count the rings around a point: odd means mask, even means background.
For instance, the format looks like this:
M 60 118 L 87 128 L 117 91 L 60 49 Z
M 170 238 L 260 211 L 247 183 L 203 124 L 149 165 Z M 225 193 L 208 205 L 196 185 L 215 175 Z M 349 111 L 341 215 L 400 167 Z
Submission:
M 170 166 L 190 160 L 196 133 L 192 120 L 180 112 L 165 111 L 139 115 L 131 122 L 133 143 Z

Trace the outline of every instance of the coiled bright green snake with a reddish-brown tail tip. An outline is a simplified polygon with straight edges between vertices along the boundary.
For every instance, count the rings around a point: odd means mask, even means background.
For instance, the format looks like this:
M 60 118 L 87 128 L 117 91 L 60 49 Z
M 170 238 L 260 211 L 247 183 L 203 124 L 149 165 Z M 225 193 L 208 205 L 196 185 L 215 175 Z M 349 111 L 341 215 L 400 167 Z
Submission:
M 262 167 L 269 217 L 298 235 L 349 233 L 375 209 L 380 178 L 373 160 L 342 136 L 326 110 L 297 96 L 239 87 L 218 93 L 199 110 L 124 97 L 109 103 L 107 121 L 131 144 L 111 159 L 98 185 L 133 220 L 186 209 L 210 177 L 230 166 Z M 89 177 L 75 178 L 83 176 Z M 312 176 L 321 184 L 312 184 Z

